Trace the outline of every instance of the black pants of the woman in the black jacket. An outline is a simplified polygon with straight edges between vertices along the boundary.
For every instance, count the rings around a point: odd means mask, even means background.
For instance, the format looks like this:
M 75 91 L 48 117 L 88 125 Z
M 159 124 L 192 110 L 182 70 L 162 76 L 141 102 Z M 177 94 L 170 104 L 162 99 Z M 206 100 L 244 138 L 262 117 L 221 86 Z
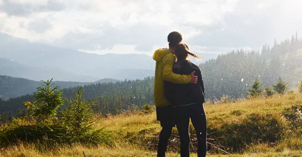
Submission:
M 200 103 L 189 106 L 175 107 L 175 122 L 180 137 L 180 155 L 181 157 L 190 156 L 190 135 L 189 122 L 190 118 L 196 131 L 198 147 L 197 155 L 206 155 L 206 117 L 203 105 Z

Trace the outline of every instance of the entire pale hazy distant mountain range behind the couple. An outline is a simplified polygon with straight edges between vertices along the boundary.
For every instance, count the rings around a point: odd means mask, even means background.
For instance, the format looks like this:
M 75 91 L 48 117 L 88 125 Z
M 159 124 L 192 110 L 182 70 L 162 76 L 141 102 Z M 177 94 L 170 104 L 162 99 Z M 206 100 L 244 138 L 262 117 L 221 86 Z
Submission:
M 33 43 L 4 33 L 0 33 L 0 41 L 0 75 L 34 81 L 54 78 L 59 81 L 95 82 L 102 78 L 143 79 L 153 76 L 155 72 L 155 61 L 145 54 L 98 55 Z M 200 55 L 206 59 L 217 56 Z

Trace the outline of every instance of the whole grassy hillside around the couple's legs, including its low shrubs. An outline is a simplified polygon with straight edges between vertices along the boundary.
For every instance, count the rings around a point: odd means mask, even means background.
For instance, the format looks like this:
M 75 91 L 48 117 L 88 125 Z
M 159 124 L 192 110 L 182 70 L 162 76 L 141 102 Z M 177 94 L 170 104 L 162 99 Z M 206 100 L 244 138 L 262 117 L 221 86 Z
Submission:
M 215 104 L 205 103 L 208 133 L 228 146 L 231 154 L 209 151 L 209 156 L 299 156 L 302 154 L 302 94 L 275 95 L 268 99 L 229 101 L 221 99 Z M 0 149 L 0 156 L 156 156 L 160 124 L 156 113 L 129 113 L 102 118 L 95 127 L 111 132 L 114 144 L 87 147 L 81 144 L 41 146 L 43 142 L 19 143 Z M 174 129 L 174 132 L 177 130 Z M 215 138 L 210 136 L 210 138 Z M 209 138 L 209 137 L 208 137 Z M 240 148 L 235 150 L 231 148 Z M 167 156 L 180 156 L 178 149 L 169 144 Z M 197 156 L 195 153 L 192 156 Z

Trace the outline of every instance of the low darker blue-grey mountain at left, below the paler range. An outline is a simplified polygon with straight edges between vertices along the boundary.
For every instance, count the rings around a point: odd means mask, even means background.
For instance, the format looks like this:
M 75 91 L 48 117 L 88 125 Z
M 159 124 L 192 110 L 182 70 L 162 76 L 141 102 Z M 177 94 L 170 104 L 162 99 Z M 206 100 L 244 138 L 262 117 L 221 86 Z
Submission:
M 90 84 L 103 84 L 103 83 L 116 83 L 118 80 L 113 80 L 110 78 L 105 78 L 93 83 L 81 83 L 81 82 L 62 82 L 53 80 L 53 84 L 55 86 L 60 86 L 61 89 L 77 87 L 77 86 L 85 86 Z M 36 92 L 36 88 L 40 87 L 43 83 L 41 81 L 32 81 L 26 78 L 17 78 L 6 75 L 0 75 L 0 98 L 8 99 L 20 97 L 26 94 L 32 94 Z

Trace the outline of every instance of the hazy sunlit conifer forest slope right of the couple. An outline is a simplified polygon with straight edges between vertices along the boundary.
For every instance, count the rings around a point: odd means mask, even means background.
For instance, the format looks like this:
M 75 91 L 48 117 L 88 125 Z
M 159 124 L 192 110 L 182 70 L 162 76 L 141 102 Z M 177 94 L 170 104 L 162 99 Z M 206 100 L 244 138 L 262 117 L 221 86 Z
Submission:
M 297 33 L 291 40 L 286 39 L 274 45 L 265 44 L 258 51 L 233 50 L 218 55 L 216 59 L 200 64 L 204 77 L 206 98 L 233 98 L 247 96 L 247 90 L 255 78 L 264 86 L 277 82 L 281 76 L 291 87 L 295 87 L 302 75 L 302 39 Z

